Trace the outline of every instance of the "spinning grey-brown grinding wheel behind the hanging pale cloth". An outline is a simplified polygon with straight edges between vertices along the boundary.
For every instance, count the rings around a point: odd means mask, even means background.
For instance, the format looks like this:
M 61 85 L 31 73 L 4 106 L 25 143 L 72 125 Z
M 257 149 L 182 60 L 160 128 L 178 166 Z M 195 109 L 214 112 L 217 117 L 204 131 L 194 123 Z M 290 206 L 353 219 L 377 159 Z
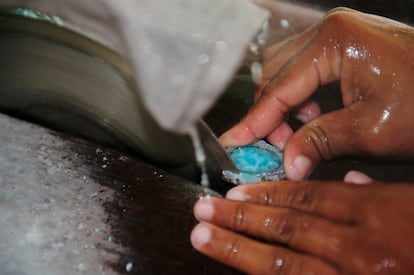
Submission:
M 110 49 L 49 22 L 3 14 L 0 60 L 1 111 L 152 162 L 192 161 L 188 138 L 157 125 L 129 65 Z

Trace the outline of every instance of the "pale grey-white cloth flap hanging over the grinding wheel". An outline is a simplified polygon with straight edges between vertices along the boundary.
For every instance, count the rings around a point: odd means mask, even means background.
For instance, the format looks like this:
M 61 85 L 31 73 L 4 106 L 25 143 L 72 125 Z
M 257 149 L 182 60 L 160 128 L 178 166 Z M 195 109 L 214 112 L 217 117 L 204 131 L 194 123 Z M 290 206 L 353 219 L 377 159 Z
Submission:
M 177 132 L 190 129 L 225 90 L 268 17 L 249 0 L 2 0 L 1 6 L 58 16 L 121 53 L 150 113 Z

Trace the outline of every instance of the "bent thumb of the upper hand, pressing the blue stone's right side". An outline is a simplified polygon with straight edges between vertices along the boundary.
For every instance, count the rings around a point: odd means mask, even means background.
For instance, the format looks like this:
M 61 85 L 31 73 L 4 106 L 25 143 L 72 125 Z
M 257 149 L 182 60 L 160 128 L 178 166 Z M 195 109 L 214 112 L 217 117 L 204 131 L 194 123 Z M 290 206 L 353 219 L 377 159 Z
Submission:
M 358 150 L 356 121 L 355 113 L 344 108 L 324 114 L 299 128 L 285 147 L 287 177 L 290 180 L 303 180 L 321 160 Z

